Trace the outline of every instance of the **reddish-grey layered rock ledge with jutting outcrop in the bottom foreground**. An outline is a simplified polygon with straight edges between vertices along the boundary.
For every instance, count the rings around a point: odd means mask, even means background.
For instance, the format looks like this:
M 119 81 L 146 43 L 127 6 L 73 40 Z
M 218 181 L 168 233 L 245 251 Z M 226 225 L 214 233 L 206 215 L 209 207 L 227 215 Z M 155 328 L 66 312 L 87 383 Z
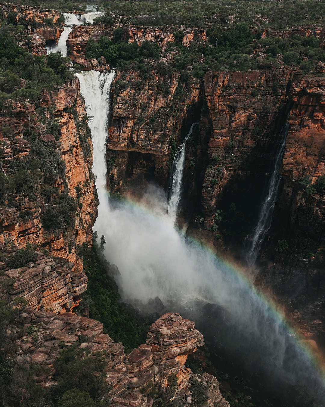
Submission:
M 61 347 L 78 343 L 81 357 L 86 357 L 89 351 L 91 354 L 107 352 L 105 381 L 109 385 L 107 396 L 111 396 L 113 406 L 151 407 L 153 400 L 144 396 L 146 389 L 155 386 L 164 394 L 168 374 L 173 372 L 177 375 L 178 384 L 170 396 L 183 405 L 192 403 L 192 386 L 200 382 L 207 398 L 205 406 L 229 407 L 214 376 L 193 374 L 183 366 L 187 355 L 203 345 L 203 338 L 194 328 L 194 322 L 183 319 L 177 313 L 167 313 L 159 318 L 150 327 L 146 344 L 129 355 L 124 354 L 121 343 L 114 343 L 109 335 L 103 333 L 103 324 L 94 319 L 67 312 L 57 315 L 35 311 L 31 307 L 26 308 L 22 318 L 25 331 L 35 333 L 15 339 L 18 349 L 15 363 L 25 368 L 32 364 L 44 366 L 48 373 L 33 376 L 42 387 L 48 388 L 56 383 L 54 363 Z M 34 329 L 36 326 L 37 330 Z M 7 334 L 13 338 L 17 336 L 14 328 Z

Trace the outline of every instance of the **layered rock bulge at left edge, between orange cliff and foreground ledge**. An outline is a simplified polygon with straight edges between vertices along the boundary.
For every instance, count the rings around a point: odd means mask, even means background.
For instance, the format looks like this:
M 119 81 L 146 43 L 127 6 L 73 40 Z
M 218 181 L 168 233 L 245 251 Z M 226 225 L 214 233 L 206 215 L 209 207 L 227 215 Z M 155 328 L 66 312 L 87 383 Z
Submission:
M 73 262 L 35 252 L 36 260 L 25 267 L 7 267 L 3 260 L 17 250 L 15 245 L 0 245 L 0 269 L 4 269 L 4 276 L 0 277 L 0 300 L 15 304 L 23 297 L 33 310 L 54 313 L 72 311 L 79 305 L 88 278 L 72 271 Z

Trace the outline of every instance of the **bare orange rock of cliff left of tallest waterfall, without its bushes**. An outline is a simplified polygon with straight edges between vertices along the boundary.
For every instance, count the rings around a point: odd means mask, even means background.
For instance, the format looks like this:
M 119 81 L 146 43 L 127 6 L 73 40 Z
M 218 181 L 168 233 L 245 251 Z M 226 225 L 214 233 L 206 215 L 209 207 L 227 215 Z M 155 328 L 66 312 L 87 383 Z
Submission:
M 35 131 L 38 138 L 52 143 L 61 154 L 65 162 L 65 176 L 53 180 L 53 186 L 62 191 L 66 185 L 69 195 L 78 203 L 78 211 L 73 225 L 66 231 L 48 231 L 44 229 L 41 220 L 46 205 L 40 190 L 36 192 L 33 200 L 24 194 L 15 194 L 12 206 L 0 208 L 0 243 L 12 242 L 20 247 L 27 242 L 37 243 L 46 248 L 50 254 L 66 257 L 69 261 L 75 262 L 74 269 L 82 270 L 77 245 L 92 241 L 97 196 L 94 190 L 94 175 L 91 172 L 92 141 L 89 133 L 85 133 L 77 123 L 77 120 L 83 120 L 85 114 L 78 79 L 74 78 L 62 88 L 52 92 L 44 92 L 41 105 L 55 109 L 55 118 L 59 120 L 60 127 L 59 140 L 55 140 L 51 134 L 44 133 L 46 127 L 37 122 L 34 105 L 26 103 L 15 106 L 17 119 L 0 118 L 1 131 L 3 128 L 10 128 L 10 136 L 0 133 L 3 145 L 2 169 L 6 173 L 7 166 L 12 160 L 29 154 L 31 146 L 22 138 L 23 131 L 25 128 Z M 77 196 L 75 188 L 79 186 L 82 188 L 82 194 Z M 28 217 L 24 216 L 26 211 Z

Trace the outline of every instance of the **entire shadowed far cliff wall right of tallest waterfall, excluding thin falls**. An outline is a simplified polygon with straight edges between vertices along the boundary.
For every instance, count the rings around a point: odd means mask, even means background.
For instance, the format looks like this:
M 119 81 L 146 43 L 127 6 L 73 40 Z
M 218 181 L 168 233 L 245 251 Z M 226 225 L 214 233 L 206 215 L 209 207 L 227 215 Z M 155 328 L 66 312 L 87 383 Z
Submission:
M 305 333 L 323 335 L 325 195 L 314 190 L 305 196 L 301 179 L 310 176 L 315 187 L 325 175 L 324 79 L 288 67 L 207 72 L 203 81 L 182 85 L 190 97 L 181 98 L 175 109 L 175 74 L 162 79 L 151 73 L 149 83 L 131 71 L 117 72 L 113 82 L 107 144 L 111 191 L 141 188 L 148 180 L 166 187 L 172 140 L 180 144 L 198 121 L 186 144 L 180 217 L 189 222 L 189 233 L 240 256 L 244 237 L 257 224 L 281 129 L 288 123 L 279 196 L 257 282 L 287 302 Z M 161 80 L 167 96 L 160 91 Z M 283 240 L 285 250 L 277 243 Z

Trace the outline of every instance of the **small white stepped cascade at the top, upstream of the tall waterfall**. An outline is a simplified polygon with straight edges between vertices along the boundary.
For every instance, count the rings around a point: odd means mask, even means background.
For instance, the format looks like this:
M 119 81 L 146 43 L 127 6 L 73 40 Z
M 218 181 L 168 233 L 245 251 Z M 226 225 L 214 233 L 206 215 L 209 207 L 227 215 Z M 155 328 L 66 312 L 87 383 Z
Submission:
M 47 45 L 45 46 L 47 53 L 55 53 L 55 52 L 61 52 L 63 57 L 66 57 L 68 55 L 68 48 L 67 48 L 67 39 L 69 37 L 69 34 L 72 31 L 72 27 L 74 25 L 81 25 L 83 24 L 83 21 L 93 23 L 94 18 L 100 17 L 100 15 L 103 15 L 104 13 L 100 12 L 91 12 L 91 13 L 86 13 L 82 14 L 81 16 L 79 14 L 73 14 L 73 13 L 63 13 L 64 15 L 64 22 L 65 26 L 63 26 L 63 31 L 60 35 L 59 41 L 57 44 L 54 45 Z

